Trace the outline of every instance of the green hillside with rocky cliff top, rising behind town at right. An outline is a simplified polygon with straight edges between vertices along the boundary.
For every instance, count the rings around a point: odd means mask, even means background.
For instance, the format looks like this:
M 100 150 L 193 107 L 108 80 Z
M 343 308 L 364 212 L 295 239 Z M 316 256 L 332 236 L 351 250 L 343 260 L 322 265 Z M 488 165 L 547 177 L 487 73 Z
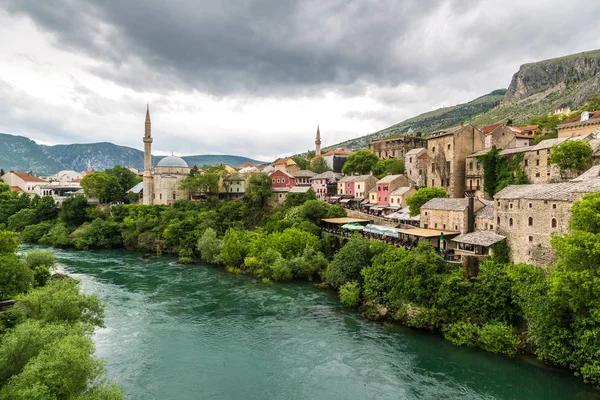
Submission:
M 409 129 L 427 135 L 460 122 L 476 127 L 512 120 L 527 120 L 558 109 L 572 111 L 587 99 L 600 95 L 600 50 L 524 64 L 508 89 L 498 89 L 468 103 L 440 108 L 394 124 L 375 133 L 329 146 L 358 149 L 373 139 L 405 134 Z

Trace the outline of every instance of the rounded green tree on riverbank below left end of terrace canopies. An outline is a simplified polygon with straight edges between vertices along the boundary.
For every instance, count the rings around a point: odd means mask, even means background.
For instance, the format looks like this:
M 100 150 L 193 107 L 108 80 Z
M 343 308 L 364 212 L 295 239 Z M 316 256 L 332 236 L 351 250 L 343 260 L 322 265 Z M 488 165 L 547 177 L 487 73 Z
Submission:
M 350 281 L 362 281 L 360 271 L 370 265 L 370 242 L 359 236 L 348 240 L 333 257 L 325 271 L 325 280 L 334 288 Z

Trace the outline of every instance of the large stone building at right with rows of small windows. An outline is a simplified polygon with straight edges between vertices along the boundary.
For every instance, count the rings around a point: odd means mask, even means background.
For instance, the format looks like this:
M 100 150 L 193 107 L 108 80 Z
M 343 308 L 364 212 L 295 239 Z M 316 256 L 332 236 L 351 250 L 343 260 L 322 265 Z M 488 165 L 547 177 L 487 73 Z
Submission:
M 600 190 L 600 178 L 582 182 L 512 185 L 494 196 L 496 233 L 506 236 L 511 261 L 546 265 L 555 260 L 552 233 L 568 231 L 571 206 Z

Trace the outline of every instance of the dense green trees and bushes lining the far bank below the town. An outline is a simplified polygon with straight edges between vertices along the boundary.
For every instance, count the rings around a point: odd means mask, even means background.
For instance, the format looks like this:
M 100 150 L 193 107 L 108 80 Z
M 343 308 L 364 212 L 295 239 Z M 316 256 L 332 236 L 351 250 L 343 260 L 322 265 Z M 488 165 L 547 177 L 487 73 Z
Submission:
M 553 238 L 555 266 L 510 264 L 500 246 L 476 276 L 425 244 L 407 251 L 321 233 L 322 218 L 345 212 L 310 192 L 290 194 L 280 207 L 269 206 L 270 197 L 265 174 L 248 179 L 244 201 L 171 207 L 97 208 L 74 196 L 59 210 L 0 186 L 0 229 L 50 246 L 175 253 L 182 263 L 201 259 L 265 283 L 320 280 L 367 318 L 439 331 L 492 353 L 529 352 L 600 384 L 600 193 L 576 203 L 571 233 Z

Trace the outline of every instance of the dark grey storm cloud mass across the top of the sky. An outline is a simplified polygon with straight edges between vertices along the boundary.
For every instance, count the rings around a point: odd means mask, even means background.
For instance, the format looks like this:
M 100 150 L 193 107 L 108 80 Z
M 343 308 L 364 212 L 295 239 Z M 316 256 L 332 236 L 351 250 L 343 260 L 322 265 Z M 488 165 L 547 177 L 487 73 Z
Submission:
M 8 9 L 56 34 L 60 45 L 102 60 L 96 74 L 138 89 L 277 94 L 423 81 L 427 70 L 404 54 L 405 40 L 440 4 L 15 0 Z M 148 79 L 152 70 L 171 78 Z

